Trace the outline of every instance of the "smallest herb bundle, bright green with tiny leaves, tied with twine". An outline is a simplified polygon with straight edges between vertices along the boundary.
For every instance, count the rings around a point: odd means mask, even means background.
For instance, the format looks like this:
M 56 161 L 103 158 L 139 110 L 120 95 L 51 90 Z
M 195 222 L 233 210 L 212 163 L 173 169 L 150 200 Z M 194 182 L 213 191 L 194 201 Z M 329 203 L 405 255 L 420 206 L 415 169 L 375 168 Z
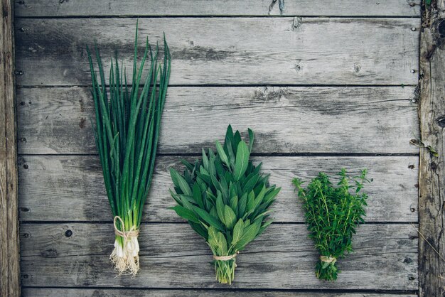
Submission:
M 367 171 L 361 171 L 360 176 L 351 178 L 345 169 L 338 173 L 338 187 L 332 185 L 326 173 L 319 173 L 304 189 L 299 178 L 292 183 L 298 191 L 306 210 L 306 225 L 310 231 L 309 237 L 315 242 L 315 247 L 321 256 L 316 264 L 318 279 L 335 281 L 340 272 L 336 266 L 338 258 L 345 252 L 353 252 L 352 237 L 358 224 L 365 222 L 365 193 L 360 194 L 365 182 Z M 351 194 L 350 191 L 355 193 Z

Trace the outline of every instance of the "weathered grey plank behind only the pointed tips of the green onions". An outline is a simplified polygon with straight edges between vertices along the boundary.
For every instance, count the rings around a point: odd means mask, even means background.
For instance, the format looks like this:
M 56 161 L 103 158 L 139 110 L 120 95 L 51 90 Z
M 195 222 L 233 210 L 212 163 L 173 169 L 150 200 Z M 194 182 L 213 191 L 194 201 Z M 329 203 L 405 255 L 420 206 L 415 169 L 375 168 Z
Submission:
M 94 39 L 104 57 L 117 44 L 131 65 L 135 26 L 134 18 L 17 19 L 18 85 L 89 85 L 85 45 Z M 417 85 L 419 26 L 419 18 L 139 20 L 153 43 L 166 33 L 172 85 Z

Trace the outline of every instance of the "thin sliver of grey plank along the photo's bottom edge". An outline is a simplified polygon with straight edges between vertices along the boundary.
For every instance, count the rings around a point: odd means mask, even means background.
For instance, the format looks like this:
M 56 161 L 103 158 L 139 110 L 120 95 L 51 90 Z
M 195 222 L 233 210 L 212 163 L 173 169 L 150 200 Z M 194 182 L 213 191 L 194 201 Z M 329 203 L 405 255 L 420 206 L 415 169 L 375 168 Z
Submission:
M 259 297 L 414 297 L 411 294 L 385 293 L 318 293 L 304 291 L 240 291 L 240 290 L 192 290 L 192 289 L 144 289 L 144 288 L 23 288 L 23 296 L 32 297 L 195 297 L 195 296 L 259 296 Z

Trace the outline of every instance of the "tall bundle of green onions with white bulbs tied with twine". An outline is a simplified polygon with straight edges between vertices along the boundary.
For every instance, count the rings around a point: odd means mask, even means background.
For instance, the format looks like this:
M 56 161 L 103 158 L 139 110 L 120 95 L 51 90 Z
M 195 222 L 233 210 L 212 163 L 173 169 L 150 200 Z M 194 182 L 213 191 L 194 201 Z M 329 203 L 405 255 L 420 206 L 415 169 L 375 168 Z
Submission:
M 109 87 L 105 85 L 100 53 L 95 45 L 99 79 L 87 48 L 95 102 L 95 141 L 104 175 L 105 189 L 114 216 L 114 250 L 110 256 L 119 275 L 139 271 L 139 225 L 149 193 L 159 139 L 161 114 L 166 99 L 171 58 L 164 36 L 163 65 L 158 62 L 159 47 L 151 50 L 148 38 L 137 68 L 137 24 L 134 41 L 133 77 L 119 70 L 117 53 L 111 61 Z M 146 59 L 150 69 L 142 79 Z M 159 88 L 156 83 L 159 82 Z M 144 87 L 140 90 L 139 84 Z M 157 89 L 157 90 L 156 90 Z

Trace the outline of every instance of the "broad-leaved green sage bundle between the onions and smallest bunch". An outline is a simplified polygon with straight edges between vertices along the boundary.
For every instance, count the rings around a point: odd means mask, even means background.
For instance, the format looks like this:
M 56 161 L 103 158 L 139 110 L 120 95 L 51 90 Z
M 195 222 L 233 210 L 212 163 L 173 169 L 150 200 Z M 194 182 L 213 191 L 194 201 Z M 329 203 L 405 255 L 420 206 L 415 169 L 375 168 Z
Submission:
M 261 163 L 249 161 L 254 141 L 250 129 L 249 138 L 247 145 L 229 125 L 224 145 L 215 142 L 216 153 L 203 149 L 202 159 L 194 164 L 183 160 L 182 175 L 170 169 L 176 192 L 170 193 L 178 203 L 172 209 L 204 237 L 222 284 L 232 284 L 235 278 L 237 253 L 272 222 L 267 220 L 269 206 L 280 190 L 269 186 L 269 175 L 260 173 Z

